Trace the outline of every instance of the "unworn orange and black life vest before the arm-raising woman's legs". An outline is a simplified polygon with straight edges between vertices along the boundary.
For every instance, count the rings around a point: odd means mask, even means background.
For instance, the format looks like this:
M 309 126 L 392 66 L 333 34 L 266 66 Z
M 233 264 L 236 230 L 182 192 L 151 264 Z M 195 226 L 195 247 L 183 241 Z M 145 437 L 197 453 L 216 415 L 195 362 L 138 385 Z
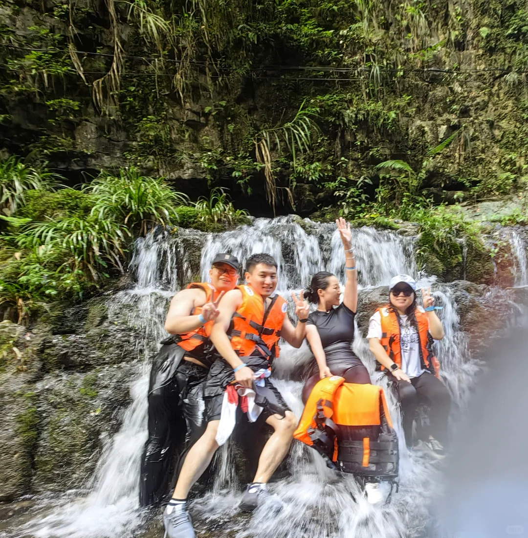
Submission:
M 294 437 L 315 448 L 329 466 L 364 477 L 398 476 L 398 439 L 383 388 L 318 381 L 306 401 Z

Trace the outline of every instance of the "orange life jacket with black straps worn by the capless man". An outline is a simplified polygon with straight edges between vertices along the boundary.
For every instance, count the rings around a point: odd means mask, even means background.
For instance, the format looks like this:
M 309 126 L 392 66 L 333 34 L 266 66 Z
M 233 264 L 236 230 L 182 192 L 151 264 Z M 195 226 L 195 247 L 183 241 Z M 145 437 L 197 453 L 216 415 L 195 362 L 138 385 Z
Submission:
M 267 359 L 279 356 L 279 338 L 286 315 L 287 303 L 274 295 L 266 310 L 262 296 L 248 285 L 237 286 L 242 303 L 233 314 L 227 336 L 240 357 L 262 355 Z

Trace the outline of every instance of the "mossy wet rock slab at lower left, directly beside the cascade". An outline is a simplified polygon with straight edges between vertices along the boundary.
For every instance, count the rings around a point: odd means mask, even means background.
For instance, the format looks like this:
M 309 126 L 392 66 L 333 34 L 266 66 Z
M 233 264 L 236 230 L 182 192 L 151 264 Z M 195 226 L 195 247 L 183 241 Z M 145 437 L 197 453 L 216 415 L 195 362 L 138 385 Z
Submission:
M 119 428 L 135 371 L 123 364 L 89 373 L 54 372 L 39 381 L 33 489 L 65 491 L 91 475 L 104 443 Z

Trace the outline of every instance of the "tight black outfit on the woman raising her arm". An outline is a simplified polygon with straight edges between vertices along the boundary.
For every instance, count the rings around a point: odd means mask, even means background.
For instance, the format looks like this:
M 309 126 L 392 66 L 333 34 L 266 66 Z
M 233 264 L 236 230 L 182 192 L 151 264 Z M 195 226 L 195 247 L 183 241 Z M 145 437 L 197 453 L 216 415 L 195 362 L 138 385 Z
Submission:
M 346 383 L 367 384 L 370 376 L 363 363 L 352 351 L 354 339 L 354 316 L 352 312 L 341 303 L 337 308 L 329 312 L 316 310 L 308 316 L 308 325 L 315 325 L 323 344 L 326 365 L 334 376 L 345 378 Z M 305 402 L 312 388 L 319 381 L 319 366 L 313 360 L 310 378 L 306 381 L 303 389 L 303 401 Z

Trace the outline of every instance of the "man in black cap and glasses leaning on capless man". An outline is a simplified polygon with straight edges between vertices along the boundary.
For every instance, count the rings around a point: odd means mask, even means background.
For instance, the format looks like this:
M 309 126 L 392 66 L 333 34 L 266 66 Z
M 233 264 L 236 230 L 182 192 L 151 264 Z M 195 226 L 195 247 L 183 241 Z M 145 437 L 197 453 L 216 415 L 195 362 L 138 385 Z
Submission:
M 170 301 L 163 340 L 148 387 L 148 439 L 141 461 L 140 504 L 160 502 L 167 494 L 184 448 L 201 436 L 203 383 L 215 357 L 209 335 L 218 302 L 234 289 L 240 264 L 231 254 L 217 254 L 209 282 L 194 282 Z M 183 359 L 183 360 L 182 360 Z M 203 425 L 203 427 L 202 427 Z

